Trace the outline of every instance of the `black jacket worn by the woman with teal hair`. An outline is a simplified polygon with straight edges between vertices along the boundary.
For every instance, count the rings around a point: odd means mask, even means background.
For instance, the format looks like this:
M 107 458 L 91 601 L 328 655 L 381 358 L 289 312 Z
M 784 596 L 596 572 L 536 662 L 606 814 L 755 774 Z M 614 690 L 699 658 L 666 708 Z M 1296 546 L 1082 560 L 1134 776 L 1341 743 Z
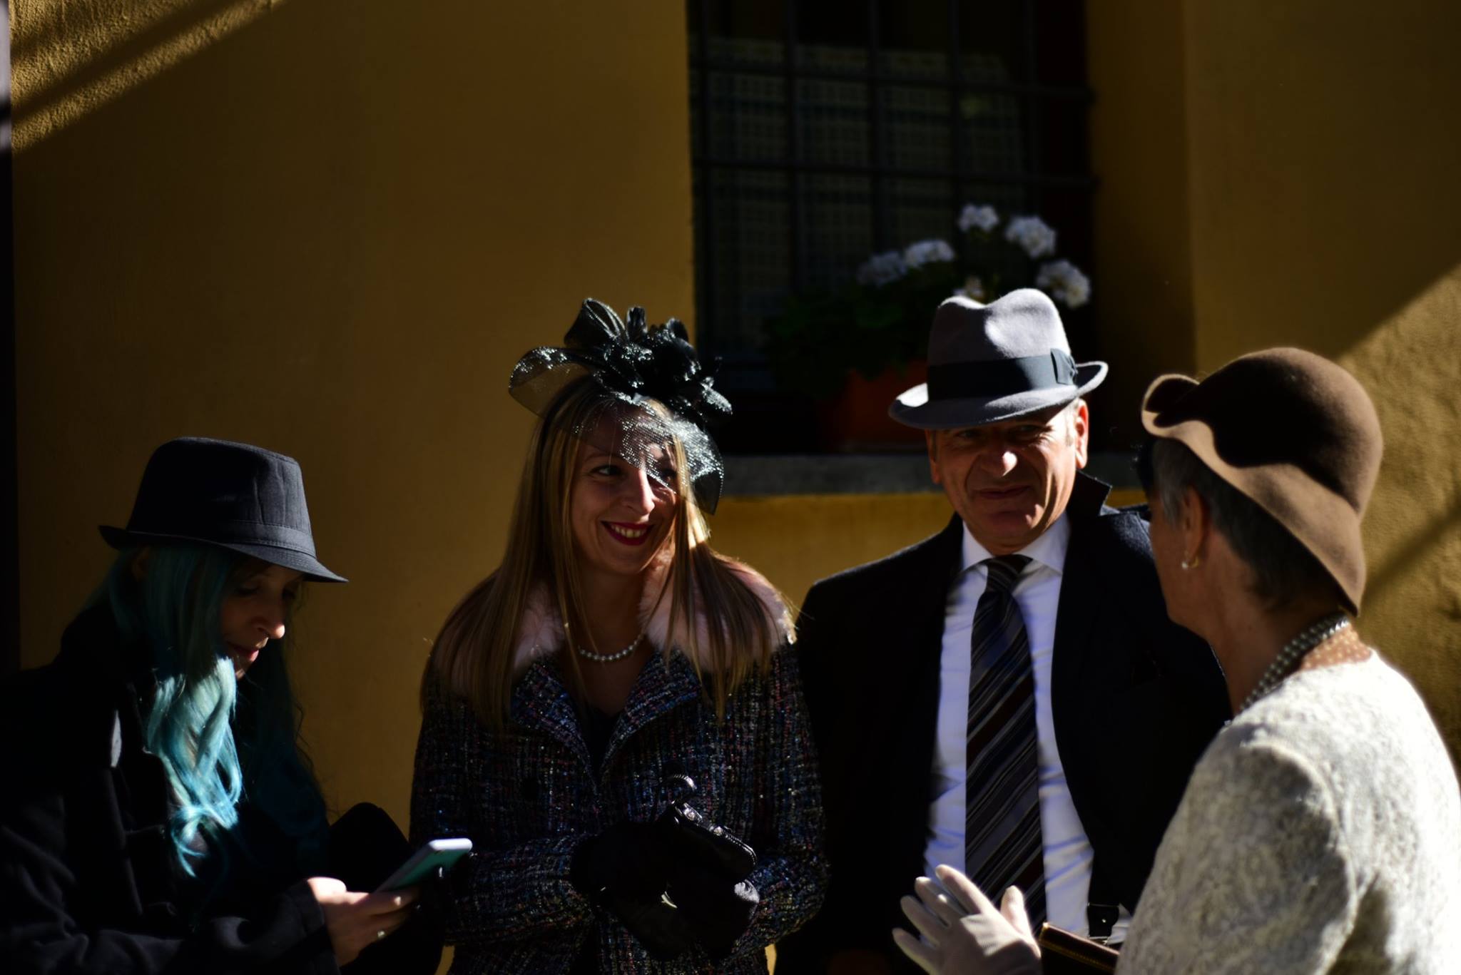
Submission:
M 96 608 L 72 623 L 53 664 L 0 684 L 0 971 L 339 972 L 304 883 L 327 871 L 326 838 L 318 870 L 304 870 L 295 841 L 244 804 L 251 855 L 231 860 L 221 889 L 177 867 L 172 791 L 143 747 L 149 681 L 146 650 L 121 645 Z M 375 950 L 345 971 L 373 968 Z M 390 971 L 434 971 L 438 953 L 418 947 Z

